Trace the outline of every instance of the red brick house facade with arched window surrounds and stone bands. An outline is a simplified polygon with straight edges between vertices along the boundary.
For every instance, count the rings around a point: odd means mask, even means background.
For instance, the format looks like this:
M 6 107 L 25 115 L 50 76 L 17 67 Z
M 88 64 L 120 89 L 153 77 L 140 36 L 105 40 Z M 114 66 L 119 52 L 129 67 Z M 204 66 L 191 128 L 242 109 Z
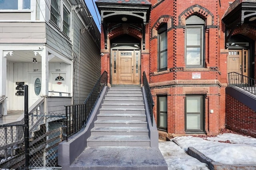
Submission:
M 234 0 L 233 0 L 234 1 Z M 141 76 L 145 71 L 150 82 L 154 103 L 157 96 L 167 96 L 167 133 L 171 136 L 186 135 L 185 97 L 187 95 L 204 96 L 204 133 L 218 134 L 225 127 L 226 98 L 228 86 L 227 57 L 225 48 L 225 25 L 222 22 L 230 0 L 150 0 L 152 4 L 150 20 L 146 26 L 145 49 L 141 49 Z M 221 4 L 220 4 L 221 3 Z M 205 21 L 204 25 L 204 68 L 189 68 L 185 64 L 186 19 L 192 15 Z M 167 24 L 167 70 L 158 71 L 158 28 Z M 108 30 L 108 48 L 104 44 L 102 26 L 101 51 L 102 72 L 108 72 L 110 84 L 111 48 L 109 42 L 122 34 L 128 34 L 142 41 L 142 32 L 123 24 Z M 243 25 L 234 30 L 232 35 L 242 34 L 256 39 L 256 29 Z M 200 78 L 194 78 L 194 74 Z M 256 75 L 256 73 L 255 73 Z M 111 85 L 111 84 L 110 84 Z M 211 110 L 211 113 L 210 113 Z M 228 110 L 228 111 L 229 111 Z M 154 117 L 157 120 L 157 105 Z M 227 119 L 228 121 L 229 119 Z M 231 125 L 229 126 L 231 127 Z M 255 129 L 254 129 L 255 130 Z

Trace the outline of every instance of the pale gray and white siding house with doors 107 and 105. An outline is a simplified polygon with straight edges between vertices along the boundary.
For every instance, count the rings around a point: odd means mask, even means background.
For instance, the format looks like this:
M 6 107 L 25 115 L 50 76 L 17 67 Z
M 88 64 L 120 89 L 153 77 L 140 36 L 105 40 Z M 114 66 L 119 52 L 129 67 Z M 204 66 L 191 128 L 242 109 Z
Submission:
M 100 31 L 84 0 L 0 0 L 0 117 L 24 111 L 19 82 L 29 107 L 44 97 L 45 112 L 64 112 L 99 77 Z

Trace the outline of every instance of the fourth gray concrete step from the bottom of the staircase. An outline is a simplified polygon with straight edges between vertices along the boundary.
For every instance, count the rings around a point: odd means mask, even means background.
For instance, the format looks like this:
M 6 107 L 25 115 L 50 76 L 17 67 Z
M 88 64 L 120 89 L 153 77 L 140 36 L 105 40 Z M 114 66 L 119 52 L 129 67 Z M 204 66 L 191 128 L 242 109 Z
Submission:
M 98 120 L 140 120 L 146 121 L 146 114 L 112 114 L 100 113 L 97 116 Z

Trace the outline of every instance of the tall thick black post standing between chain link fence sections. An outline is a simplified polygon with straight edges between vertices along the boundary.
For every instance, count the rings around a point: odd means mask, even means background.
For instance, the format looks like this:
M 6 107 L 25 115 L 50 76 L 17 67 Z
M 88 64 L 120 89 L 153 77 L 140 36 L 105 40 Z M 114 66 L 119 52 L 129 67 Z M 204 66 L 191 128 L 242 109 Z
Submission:
M 29 166 L 29 124 L 28 124 L 28 85 L 24 86 L 24 141 L 25 141 L 25 170 Z

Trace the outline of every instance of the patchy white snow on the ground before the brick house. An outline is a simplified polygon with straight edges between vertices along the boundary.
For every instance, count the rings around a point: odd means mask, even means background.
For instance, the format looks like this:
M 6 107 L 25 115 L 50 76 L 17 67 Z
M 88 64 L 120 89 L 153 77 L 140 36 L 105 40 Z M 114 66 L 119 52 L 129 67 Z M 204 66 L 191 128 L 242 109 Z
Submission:
M 172 141 L 159 143 L 170 170 L 206 170 L 208 166 L 186 154 L 194 147 L 212 160 L 223 164 L 256 164 L 256 139 L 233 133 L 216 137 L 175 137 Z

